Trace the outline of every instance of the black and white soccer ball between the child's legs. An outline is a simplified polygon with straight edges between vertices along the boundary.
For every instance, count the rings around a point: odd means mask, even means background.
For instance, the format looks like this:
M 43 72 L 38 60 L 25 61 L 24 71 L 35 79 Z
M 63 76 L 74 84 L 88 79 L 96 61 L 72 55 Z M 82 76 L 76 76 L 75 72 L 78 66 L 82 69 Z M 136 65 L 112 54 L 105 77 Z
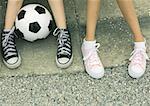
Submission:
M 15 26 L 18 36 L 32 42 L 49 35 L 52 28 L 52 16 L 44 6 L 29 4 L 20 9 Z

